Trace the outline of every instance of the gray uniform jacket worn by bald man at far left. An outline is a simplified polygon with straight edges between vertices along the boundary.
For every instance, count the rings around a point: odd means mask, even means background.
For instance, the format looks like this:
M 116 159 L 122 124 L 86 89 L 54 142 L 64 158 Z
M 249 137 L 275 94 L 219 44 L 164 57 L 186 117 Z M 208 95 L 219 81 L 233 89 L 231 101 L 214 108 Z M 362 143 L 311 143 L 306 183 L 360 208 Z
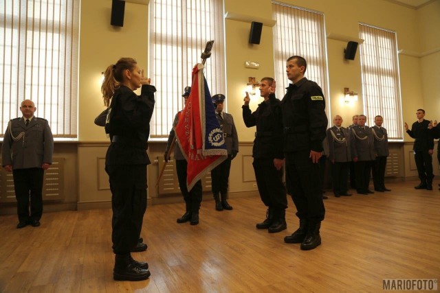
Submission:
M 43 163 L 52 164 L 53 153 L 54 137 L 46 119 L 33 117 L 28 126 L 23 117 L 10 121 L 1 148 L 3 167 L 41 168 Z

